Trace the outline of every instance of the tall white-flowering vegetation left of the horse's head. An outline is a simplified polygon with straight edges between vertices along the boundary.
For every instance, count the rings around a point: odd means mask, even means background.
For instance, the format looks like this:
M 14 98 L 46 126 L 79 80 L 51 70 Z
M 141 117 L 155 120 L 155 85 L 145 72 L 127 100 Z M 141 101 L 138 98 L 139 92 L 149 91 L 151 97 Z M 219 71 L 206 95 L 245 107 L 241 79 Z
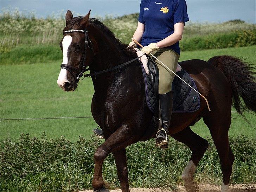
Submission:
M 36 19 L 33 12 L 25 15 L 18 9 L 5 9 L 0 18 L 0 45 L 4 47 L 58 44 L 65 26 L 61 16 Z

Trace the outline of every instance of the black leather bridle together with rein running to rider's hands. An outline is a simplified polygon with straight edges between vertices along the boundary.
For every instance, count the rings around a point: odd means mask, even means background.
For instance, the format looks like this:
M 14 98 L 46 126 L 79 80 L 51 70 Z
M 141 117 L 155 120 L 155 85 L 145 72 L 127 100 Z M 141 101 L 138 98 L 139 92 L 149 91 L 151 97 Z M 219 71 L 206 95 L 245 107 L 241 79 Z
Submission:
M 129 60 L 128 62 L 122 63 L 120 65 L 114 66 L 113 68 L 110 68 L 110 69 L 105 69 L 105 70 L 98 71 L 98 72 L 95 72 L 95 70 L 94 70 L 94 73 L 84 74 L 84 72 L 90 70 L 89 67 L 87 68 L 87 66 L 85 66 L 87 48 L 89 47 L 92 50 L 92 52 L 94 53 L 94 58 L 95 58 L 95 52 L 94 52 L 94 49 L 92 47 L 92 43 L 91 43 L 91 41 L 89 39 L 87 29 L 85 29 L 85 30 L 71 29 L 71 30 L 64 31 L 64 33 L 75 33 L 75 32 L 84 33 L 85 34 L 84 54 L 83 54 L 83 58 L 81 59 L 81 62 L 79 63 L 79 68 L 75 68 L 75 67 L 73 67 L 71 65 L 61 64 L 60 65 L 60 69 L 68 70 L 72 74 L 72 76 L 76 78 L 76 81 L 79 81 L 79 80 L 82 81 L 85 77 L 91 77 L 91 76 L 95 76 L 95 78 L 96 78 L 96 75 L 99 75 L 101 73 L 105 73 L 105 72 L 109 72 L 109 71 L 113 71 L 115 69 L 121 68 L 121 67 L 123 67 L 123 66 L 125 66 L 125 65 L 127 65 L 129 63 L 134 62 L 137 59 L 139 60 L 139 58 L 141 57 L 141 56 L 140 57 L 136 57 L 135 59 Z M 140 62 L 140 60 L 139 60 L 139 62 Z M 74 72 L 77 72 L 78 76 L 75 75 Z

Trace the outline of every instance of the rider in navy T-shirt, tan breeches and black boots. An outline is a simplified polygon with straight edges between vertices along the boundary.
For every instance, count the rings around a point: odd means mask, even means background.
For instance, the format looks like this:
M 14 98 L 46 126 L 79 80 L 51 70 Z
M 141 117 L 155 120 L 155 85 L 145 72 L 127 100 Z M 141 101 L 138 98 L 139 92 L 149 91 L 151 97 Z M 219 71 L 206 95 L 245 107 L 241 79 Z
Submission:
M 133 38 L 144 46 L 142 52 L 147 55 L 152 53 L 174 71 L 180 57 L 179 40 L 183 35 L 185 22 L 188 20 L 185 0 L 141 0 L 138 25 Z M 129 46 L 135 46 L 135 43 L 131 42 Z M 171 85 L 174 74 L 157 60 L 155 62 L 159 68 L 158 91 L 159 109 L 161 109 L 159 113 L 162 117 L 162 125 L 156 134 L 156 145 L 167 148 L 173 104 Z M 96 135 L 97 130 L 94 129 Z

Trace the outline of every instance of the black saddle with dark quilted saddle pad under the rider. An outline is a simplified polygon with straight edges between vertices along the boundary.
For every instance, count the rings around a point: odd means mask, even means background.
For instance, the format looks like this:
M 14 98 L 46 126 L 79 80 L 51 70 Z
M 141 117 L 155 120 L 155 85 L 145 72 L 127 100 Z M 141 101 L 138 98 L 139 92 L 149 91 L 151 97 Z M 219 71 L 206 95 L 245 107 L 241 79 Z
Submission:
M 146 73 L 142 63 L 141 69 L 144 78 L 146 101 L 149 110 L 152 113 L 158 113 L 158 83 L 159 83 L 159 70 L 158 66 L 149 56 L 148 69 L 149 75 Z M 197 90 L 196 84 L 192 77 L 185 71 L 181 70 L 176 74 L 187 82 L 191 87 Z M 186 83 L 181 81 L 178 77 L 174 77 L 172 83 L 173 90 L 173 113 L 192 113 L 200 108 L 199 94 L 189 87 Z

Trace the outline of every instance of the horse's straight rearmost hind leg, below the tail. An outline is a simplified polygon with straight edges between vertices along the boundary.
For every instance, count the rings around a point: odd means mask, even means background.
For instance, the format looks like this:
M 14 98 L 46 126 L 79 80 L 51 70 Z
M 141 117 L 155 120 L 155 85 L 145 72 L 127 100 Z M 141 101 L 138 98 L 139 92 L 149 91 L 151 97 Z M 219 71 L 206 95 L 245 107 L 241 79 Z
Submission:
M 230 112 L 228 115 L 223 115 L 222 117 L 222 120 L 216 120 L 213 115 L 208 115 L 203 117 L 203 120 L 210 129 L 213 142 L 219 155 L 223 181 L 221 191 L 228 192 L 230 175 L 232 173 L 232 165 L 234 162 L 234 155 L 230 148 L 228 135 L 231 123 Z

